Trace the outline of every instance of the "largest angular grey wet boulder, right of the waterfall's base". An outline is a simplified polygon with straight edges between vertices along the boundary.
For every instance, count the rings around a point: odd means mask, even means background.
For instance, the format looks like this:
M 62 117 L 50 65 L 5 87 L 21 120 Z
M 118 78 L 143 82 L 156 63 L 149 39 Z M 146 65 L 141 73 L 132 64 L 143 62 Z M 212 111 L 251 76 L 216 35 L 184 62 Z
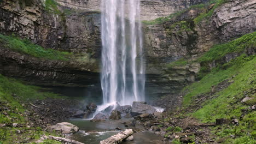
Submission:
M 153 114 L 154 112 L 156 112 L 156 109 L 153 106 L 147 105 L 144 102 L 133 101 L 133 103 L 132 103 L 131 115 L 133 117 L 141 115 L 143 113 Z

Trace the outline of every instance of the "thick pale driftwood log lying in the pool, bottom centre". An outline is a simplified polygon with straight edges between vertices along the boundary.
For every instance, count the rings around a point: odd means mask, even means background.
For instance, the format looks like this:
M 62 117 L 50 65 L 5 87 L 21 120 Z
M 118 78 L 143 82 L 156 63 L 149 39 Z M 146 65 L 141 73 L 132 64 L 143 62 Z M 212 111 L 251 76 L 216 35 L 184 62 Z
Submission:
M 132 129 L 126 129 L 124 131 L 121 131 L 120 133 L 113 135 L 109 137 L 106 140 L 101 141 L 100 144 L 116 144 L 121 143 L 123 140 L 125 140 L 127 137 L 131 136 L 133 134 Z

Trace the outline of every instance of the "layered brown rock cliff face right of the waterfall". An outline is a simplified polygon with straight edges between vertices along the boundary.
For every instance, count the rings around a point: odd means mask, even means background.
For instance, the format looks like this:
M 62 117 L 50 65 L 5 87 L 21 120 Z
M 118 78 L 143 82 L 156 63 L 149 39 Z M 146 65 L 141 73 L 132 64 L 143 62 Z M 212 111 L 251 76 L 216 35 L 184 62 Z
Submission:
M 176 92 L 196 80 L 200 64 L 167 67 L 177 59 L 194 59 L 207 52 L 214 44 L 225 43 L 256 30 L 256 10 L 253 0 L 234 0 L 214 9 L 208 19 L 196 22 L 196 17 L 208 13 L 206 9 L 192 8 L 167 22 L 144 25 L 145 53 L 147 55 L 148 94 L 165 95 Z M 157 79 L 159 78 L 159 79 Z M 159 92 L 150 89 L 157 87 Z

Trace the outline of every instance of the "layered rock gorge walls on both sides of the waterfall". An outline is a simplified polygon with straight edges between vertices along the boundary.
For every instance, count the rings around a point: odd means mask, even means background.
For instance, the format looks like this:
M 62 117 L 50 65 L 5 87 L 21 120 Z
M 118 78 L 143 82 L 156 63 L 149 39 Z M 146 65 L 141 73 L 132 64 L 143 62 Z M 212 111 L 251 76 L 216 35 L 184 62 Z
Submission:
M 44 1 L 2 0 L 0 3 L 0 32 L 15 33 L 46 49 L 55 49 L 99 59 L 100 0 L 56 0 L 55 5 Z M 189 8 L 207 0 L 143 0 L 141 19 L 170 17 L 165 22 L 144 25 L 144 47 L 147 59 L 146 94 L 161 97 L 175 93 L 196 80 L 200 64 L 167 67 L 181 58 L 193 59 L 214 44 L 230 41 L 256 29 L 255 1 L 229 0 L 206 8 Z M 57 9 L 55 8 L 57 7 Z M 48 8 L 50 7 L 50 9 Z M 48 8 L 48 9 L 47 9 Z M 202 14 L 212 15 L 200 22 Z M 41 61 L 27 55 L 2 50 L 1 74 L 21 78 L 40 85 L 87 87 L 99 83 L 98 65 L 72 62 Z M 20 58 L 21 57 L 21 58 Z M 32 59 L 32 60 L 31 60 Z M 20 73 L 21 71 L 21 73 Z M 10 73 L 11 72 L 11 73 Z M 31 79 L 33 77 L 33 80 Z M 71 78 L 69 78 L 71 77 Z M 57 84 L 56 84 L 57 85 Z

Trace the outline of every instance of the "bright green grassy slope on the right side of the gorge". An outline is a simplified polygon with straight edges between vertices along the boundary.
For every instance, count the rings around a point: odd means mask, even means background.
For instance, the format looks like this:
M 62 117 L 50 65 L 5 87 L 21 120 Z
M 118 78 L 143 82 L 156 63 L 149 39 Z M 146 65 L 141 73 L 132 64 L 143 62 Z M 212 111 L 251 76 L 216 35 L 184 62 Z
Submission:
M 241 38 L 231 41 L 230 43 L 213 46 L 212 49 L 196 60 L 201 64 L 209 63 L 213 60 L 218 61 L 224 55 L 237 52 L 243 53 L 246 47 L 256 46 L 256 32 L 246 34 Z M 187 63 L 184 59 L 181 62 L 174 62 L 171 65 L 183 65 Z M 170 65 L 170 64 L 169 64 Z M 202 103 L 202 108 L 190 113 L 202 122 L 214 122 L 216 118 L 237 118 L 239 125 L 222 125 L 212 129 L 212 133 L 217 135 L 217 139 L 226 137 L 224 143 L 255 143 L 253 137 L 256 136 L 255 118 L 256 113 L 248 109 L 249 106 L 256 104 L 255 93 L 255 76 L 256 76 L 256 58 L 254 56 L 241 56 L 233 59 L 229 63 L 219 64 L 217 68 L 209 70 L 198 82 L 193 83 L 184 88 L 188 91 L 184 96 L 183 106 L 189 107 L 191 100 L 196 95 L 211 91 L 211 87 L 218 83 L 235 76 L 234 81 L 228 88 L 218 92 L 214 99 Z M 204 69 L 202 67 L 202 69 Z M 253 99 L 246 103 L 241 103 L 241 99 L 247 95 Z M 245 113 L 246 111 L 246 113 Z M 241 115 L 245 115 L 240 119 Z M 231 139 L 230 135 L 235 135 L 235 139 Z

